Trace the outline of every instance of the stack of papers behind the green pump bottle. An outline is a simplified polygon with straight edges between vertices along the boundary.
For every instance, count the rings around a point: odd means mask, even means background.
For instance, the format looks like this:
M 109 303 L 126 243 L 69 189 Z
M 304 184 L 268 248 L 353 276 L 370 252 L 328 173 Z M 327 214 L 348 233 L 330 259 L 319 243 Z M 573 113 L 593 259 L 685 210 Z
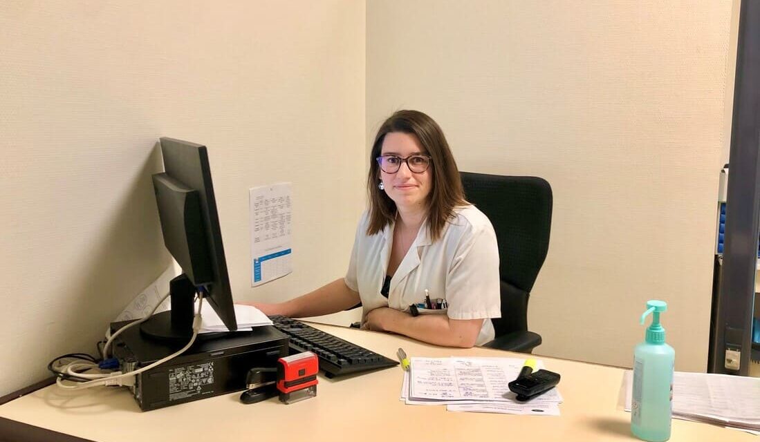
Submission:
M 627 371 L 625 410 L 631 411 L 632 372 Z M 673 374 L 673 417 L 750 432 L 760 431 L 760 379 L 730 374 Z

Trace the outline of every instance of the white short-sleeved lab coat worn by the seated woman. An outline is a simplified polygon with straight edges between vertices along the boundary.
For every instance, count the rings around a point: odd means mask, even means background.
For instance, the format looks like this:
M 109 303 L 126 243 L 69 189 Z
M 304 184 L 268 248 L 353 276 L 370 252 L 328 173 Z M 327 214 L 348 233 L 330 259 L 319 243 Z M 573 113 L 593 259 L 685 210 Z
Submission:
M 474 206 L 455 209 L 436 242 L 430 240 L 427 223 L 423 223 L 391 278 L 387 299 L 380 289 L 391 256 L 394 224 L 369 236 L 368 222 L 365 212 L 356 229 L 345 278 L 346 285 L 362 299 L 362 321 L 378 307 L 409 311 L 411 304 L 424 302 L 428 289 L 433 301 L 442 298 L 448 303 L 448 310 L 439 313 L 452 319 L 485 319 L 476 345 L 493 339 L 488 318 L 501 317 L 499 247 L 491 222 L 480 210 Z

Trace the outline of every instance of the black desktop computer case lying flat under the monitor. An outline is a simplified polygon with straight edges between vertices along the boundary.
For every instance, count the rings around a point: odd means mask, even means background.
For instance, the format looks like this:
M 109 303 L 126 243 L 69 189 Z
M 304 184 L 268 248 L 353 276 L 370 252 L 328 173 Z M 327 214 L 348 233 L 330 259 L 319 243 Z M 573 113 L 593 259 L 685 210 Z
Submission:
M 111 333 L 126 324 L 111 324 Z M 139 328 L 131 327 L 114 340 L 113 355 L 124 372 L 145 367 L 187 344 L 156 341 L 143 336 Z M 204 333 L 182 355 L 137 374 L 131 391 L 142 411 L 232 393 L 245 390 L 251 368 L 274 368 L 277 359 L 287 355 L 287 336 L 271 326 Z

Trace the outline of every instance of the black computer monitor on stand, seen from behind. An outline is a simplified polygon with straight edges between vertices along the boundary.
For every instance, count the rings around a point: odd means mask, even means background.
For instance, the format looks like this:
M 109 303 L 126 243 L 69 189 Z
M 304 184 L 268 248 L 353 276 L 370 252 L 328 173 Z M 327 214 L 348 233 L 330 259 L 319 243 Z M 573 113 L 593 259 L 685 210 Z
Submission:
M 230 331 L 237 329 L 230 278 L 224 259 L 206 147 L 162 137 L 164 172 L 153 175 L 163 242 L 182 274 L 169 284 L 171 309 L 141 324 L 155 339 L 192 336 L 195 294 L 204 296 Z

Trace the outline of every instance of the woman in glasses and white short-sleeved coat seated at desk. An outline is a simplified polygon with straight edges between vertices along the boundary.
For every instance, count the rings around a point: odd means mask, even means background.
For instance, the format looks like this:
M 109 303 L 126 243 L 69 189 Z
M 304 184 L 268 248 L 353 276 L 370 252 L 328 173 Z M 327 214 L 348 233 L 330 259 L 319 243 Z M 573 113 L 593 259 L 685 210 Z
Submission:
M 454 157 L 438 124 L 402 110 L 378 130 L 370 154 L 369 210 L 363 214 L 345 278 L 265 314 L 311 317 L 363 306 L 362 327 L 440 346 L 493 339 L 500 317 L 499 250 L 491 223 L 464 200 Z M 410 305 L 442 300 L 447 308 Z

